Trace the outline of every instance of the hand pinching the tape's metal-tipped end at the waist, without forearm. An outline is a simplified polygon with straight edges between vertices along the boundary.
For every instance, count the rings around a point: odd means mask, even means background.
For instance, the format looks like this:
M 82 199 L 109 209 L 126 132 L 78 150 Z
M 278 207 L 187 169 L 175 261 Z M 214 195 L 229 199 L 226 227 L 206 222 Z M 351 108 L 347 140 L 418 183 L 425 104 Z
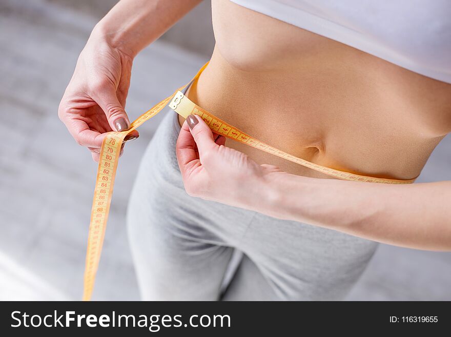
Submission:
M 259 165 L 242 152 L 224 146 L 197 115 L 189 115 L 178 136 L 176 153 L 189 195 L 231 206 L 257 210 L 270 181 L 286 174 L 272 165 Z

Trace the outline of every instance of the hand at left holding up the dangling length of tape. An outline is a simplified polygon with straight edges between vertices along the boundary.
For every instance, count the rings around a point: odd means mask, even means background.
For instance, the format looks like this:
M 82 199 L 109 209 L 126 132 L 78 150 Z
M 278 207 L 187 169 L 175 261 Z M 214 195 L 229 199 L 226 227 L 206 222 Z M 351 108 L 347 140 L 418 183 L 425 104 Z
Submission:
M 132 63 L 132 55 L 113 48 L 103 38 L 91 36 L 59 104 L 59 119 L 75 141 L 91 151 L 96 162 L 105 133 L 130 127 L 124 107 Z M 134 130 L 125 141 L 138 136 Z

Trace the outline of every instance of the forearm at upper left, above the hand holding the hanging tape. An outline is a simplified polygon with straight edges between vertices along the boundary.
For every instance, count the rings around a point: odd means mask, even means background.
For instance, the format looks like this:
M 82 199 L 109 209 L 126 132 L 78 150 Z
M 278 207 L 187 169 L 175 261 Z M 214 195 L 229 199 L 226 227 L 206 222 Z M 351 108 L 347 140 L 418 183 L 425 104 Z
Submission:
M 201 0 L 121 0 L 95 26 L 91 38 L 134 57 Z

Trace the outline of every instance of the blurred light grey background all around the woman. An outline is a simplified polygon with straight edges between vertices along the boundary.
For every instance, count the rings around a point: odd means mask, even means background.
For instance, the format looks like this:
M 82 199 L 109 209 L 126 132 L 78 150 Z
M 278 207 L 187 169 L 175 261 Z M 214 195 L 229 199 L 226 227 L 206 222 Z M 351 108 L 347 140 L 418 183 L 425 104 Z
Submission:
M 57 117 L 61 95 L 98 17 L 114 0 L 0 0 L 0 300 L 78 300 L 96 164 Z M 186 83 L 214 45 L 202 4 L 135 60 L 133 120 Z M 125 230 L 141 153 L 162 116 L 121 158 L 94 300 L 137 300 Z M 451 180 L 451 138 L 419 182 Z M 451 253 L 381 245 L 349 300 L 451 300 Z

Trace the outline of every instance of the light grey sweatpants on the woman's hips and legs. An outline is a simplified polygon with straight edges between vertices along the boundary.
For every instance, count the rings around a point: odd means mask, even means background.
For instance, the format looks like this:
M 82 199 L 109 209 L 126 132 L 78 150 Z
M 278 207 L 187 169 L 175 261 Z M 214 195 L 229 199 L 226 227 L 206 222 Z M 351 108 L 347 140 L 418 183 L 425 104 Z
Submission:
M 127 217 L 142 299 L 343 299 L 377 244 L 189 196 L 175 156 L 177 114 L 161 113 Z

